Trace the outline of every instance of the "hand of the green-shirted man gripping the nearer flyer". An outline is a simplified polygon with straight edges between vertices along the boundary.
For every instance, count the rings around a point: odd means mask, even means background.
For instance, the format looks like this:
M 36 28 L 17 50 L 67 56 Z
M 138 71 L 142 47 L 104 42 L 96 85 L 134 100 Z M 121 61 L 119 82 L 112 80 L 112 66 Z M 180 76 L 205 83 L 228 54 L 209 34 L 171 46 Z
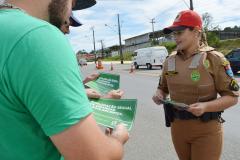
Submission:
M 117 125 L 116 129 L 114 131 L 111 131 L 109 134 L 113 138 L 116 138 L 122 144 L 125 144 L 129 139 L 129 133 L 124 124 Z

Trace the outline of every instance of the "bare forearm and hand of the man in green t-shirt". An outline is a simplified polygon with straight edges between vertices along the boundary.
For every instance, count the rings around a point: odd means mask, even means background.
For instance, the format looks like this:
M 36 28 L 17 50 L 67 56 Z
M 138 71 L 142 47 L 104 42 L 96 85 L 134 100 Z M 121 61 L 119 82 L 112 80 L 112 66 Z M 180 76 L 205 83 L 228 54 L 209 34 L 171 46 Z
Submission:
M 92 115 L 50 137 L 65 160 L 120 160 L 128 139 L 125 127 L 106 136 Z

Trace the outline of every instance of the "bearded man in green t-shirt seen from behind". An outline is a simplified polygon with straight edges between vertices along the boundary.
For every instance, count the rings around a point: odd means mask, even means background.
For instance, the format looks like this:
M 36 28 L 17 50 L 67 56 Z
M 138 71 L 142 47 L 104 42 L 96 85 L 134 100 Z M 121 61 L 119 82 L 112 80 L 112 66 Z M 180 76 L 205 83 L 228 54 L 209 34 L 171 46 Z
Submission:
M 5 3 L 0 6 L 0 159 L 121 159 L 125 127 L 104 135 L 96 125 L 70 44 L 47 22 L 61 25 L 75 0 Z

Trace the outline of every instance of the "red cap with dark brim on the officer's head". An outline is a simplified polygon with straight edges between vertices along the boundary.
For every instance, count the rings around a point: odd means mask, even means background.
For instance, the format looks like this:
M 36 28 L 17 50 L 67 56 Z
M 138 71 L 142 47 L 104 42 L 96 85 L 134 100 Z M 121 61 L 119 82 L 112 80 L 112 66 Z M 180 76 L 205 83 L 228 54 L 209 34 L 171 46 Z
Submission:
M 197 12 L 192 10 L 181 11 L 175 18 L 173 24 L 163 29 L 164 34 L 184 29 L 184 27 L 197 27 L 202 29 L 202 19 Z

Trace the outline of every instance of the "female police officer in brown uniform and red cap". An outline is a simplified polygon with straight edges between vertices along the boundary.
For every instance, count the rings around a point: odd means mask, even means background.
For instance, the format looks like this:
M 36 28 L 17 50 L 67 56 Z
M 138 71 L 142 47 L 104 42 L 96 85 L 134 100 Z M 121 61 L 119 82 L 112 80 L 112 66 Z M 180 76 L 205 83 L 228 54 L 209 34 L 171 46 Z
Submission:
M 174 102 L 189 106 L 184 111 L 171 108 L 172 141 L 180 160 L 219 160 L 221 112 L 239 96 L 229 62 L 207 46 L 201 17 L 194 11 L 180 12 L 163 32 L 173 33 L 177 51 L 165 61 L 153 101 L 161 104 L 169 94 Z

